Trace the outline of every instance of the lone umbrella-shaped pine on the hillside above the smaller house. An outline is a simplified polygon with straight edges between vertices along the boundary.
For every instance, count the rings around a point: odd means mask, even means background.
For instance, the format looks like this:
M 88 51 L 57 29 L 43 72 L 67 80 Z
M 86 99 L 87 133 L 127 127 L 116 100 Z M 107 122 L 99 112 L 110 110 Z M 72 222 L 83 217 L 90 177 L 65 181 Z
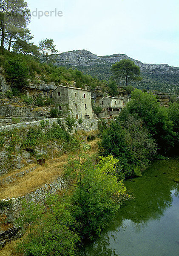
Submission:
M 125 79 L 126 86 L 128 86 L 128 80 L 142 80 L 140 77 L 140 69 L 134 64 L 134 61 L 129 59 L 123 59 L 112 65 L 111 71 L 114 73 L 115 79 Z

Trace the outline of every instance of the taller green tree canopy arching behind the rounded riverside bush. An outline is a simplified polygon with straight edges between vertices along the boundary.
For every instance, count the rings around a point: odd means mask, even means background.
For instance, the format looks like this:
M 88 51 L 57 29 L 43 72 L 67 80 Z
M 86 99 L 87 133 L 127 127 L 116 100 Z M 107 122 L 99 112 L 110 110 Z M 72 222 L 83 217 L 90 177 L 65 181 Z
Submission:
M 160 153 L 167 153 L 174 146 L 176 134 L 173 122 L 168 118 L 168 110 L 161 107 L 152 93 L 135 89 L 131 93 L 131 101 L 120 113 L 121 120 L 127 120 L 129 115 L 139 116 L 143 125 L 153 135 Z

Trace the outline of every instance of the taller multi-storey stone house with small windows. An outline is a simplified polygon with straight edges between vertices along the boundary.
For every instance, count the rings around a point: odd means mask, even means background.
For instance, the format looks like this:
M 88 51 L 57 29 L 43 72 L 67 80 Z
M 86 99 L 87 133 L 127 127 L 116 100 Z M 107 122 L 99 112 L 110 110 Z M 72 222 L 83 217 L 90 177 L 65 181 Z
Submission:
M 70 110 L 76 119 L 92 119 L 91 92 L 60 85 L 52 92 L 52 98 L 63 113 Z

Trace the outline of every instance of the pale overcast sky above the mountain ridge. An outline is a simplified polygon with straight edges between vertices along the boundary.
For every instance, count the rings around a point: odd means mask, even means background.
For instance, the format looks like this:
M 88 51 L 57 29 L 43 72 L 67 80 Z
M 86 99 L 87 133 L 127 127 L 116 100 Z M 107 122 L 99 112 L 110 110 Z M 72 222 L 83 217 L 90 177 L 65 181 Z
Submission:
M 122 53 L 179 67 L 179 0 L 26 1 L 35 44 L 51 38 L 59 52 Z

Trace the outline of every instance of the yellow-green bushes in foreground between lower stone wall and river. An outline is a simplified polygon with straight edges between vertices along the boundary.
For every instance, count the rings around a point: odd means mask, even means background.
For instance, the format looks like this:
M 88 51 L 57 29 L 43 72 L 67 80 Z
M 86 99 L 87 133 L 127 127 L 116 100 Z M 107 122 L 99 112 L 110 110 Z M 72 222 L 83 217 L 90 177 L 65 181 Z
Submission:
M 41 207 L 33 202 L 23 204 L 17 222 L 21 226 L 29 224 L 30 234 L 18 244 L 17 253 L 75 256 L 80 240 L 99 236 L 119 209 L 121 197 L 129 199 L 122 181 L 116 178 L 118 160 L 112 156 L 101 157 L 99 164 L 94 166 L 89 157 L 85 157 L 88 146 L 81 143 L 76 146 L 79 148 L 77 158 L 71 159 L 76 177 L 76 182 L 73 180 L 70 184 L 72 194 L 47 198 L 43 216 Z

